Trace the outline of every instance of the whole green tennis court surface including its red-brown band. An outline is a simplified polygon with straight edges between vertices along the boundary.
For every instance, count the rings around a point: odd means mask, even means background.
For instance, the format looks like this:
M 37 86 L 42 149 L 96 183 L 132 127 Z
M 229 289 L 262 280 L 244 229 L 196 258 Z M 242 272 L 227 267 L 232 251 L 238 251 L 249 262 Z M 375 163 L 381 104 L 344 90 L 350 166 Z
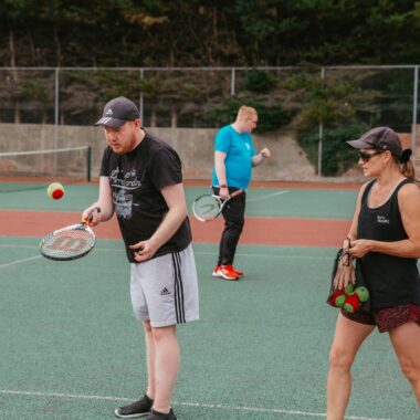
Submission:
M 44 260 L 40 237 L 77 222 L 97 187 L 65 186 L 60 201 L 46 197 L 44 183 L 7 187 L 0 192 L 0 418 L 111 419 L 146 386 L 143 333 L 116 227 L 97 229 L 98 244 L 85 259 Z M 187 188 L 189 208 L 204 190 Z M 211 276 L 220 221 L 191 220 L 201 319 L 178 328 L 180 420 L 325 418 L 337 315 L 325 298 L 356 195 L 340 187 L 251 189 L 239 282 Z M 347 418 L 419 419 L 387 335 L 374 333 L 360 350 Z

